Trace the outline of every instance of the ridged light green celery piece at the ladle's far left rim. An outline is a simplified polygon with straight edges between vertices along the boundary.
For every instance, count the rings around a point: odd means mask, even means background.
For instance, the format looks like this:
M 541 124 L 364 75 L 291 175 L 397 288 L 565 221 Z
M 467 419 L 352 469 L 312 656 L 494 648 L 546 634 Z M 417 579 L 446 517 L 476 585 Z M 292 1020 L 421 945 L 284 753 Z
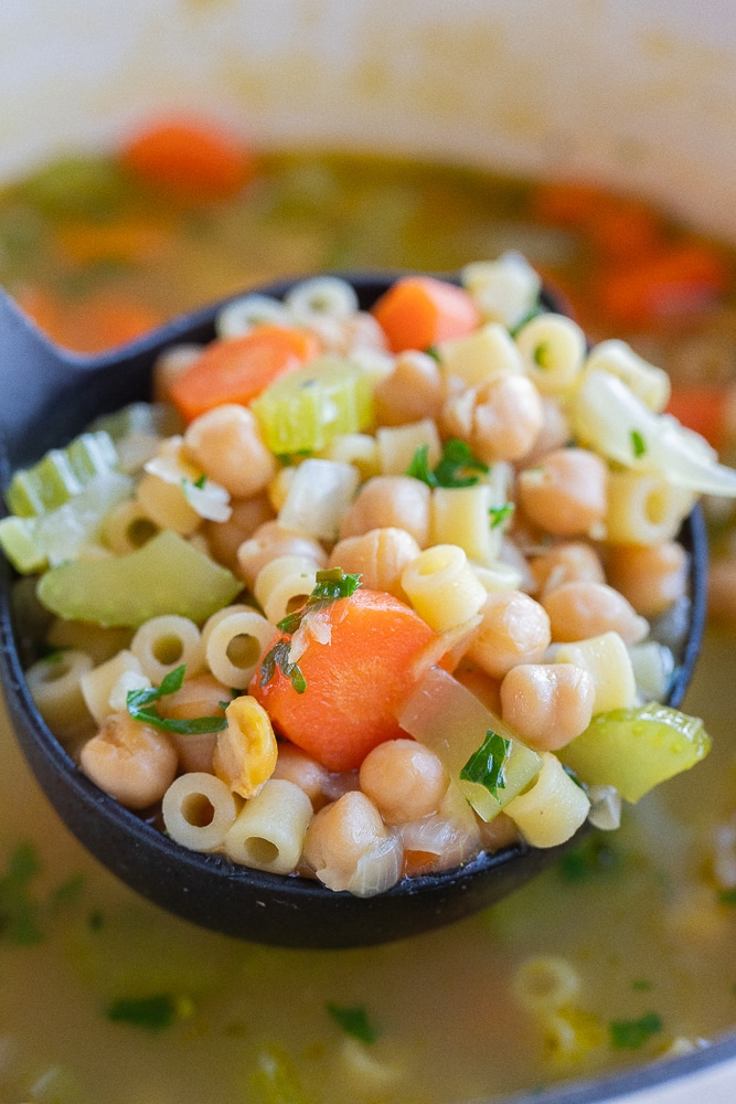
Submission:
M 94 476 L 114 471 L 117 463 L 108 433 L 83 433 L 66 448 L 52 448 L 33 467 L 15 473 L 6 493 L 8 509 L 20 518 L 40 517 L 78 495 Z

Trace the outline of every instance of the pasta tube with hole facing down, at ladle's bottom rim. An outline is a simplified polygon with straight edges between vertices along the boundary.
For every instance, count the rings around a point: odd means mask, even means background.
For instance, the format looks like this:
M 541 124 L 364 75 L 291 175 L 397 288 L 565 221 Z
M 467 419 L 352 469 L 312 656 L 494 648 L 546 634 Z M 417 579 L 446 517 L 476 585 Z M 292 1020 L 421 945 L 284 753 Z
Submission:
M 243 806 L 225 836 L 225 851 L 242 866 L 289 874 L 301 858 L 311 815 L 303 789 L 286 778 L 269 778 Z

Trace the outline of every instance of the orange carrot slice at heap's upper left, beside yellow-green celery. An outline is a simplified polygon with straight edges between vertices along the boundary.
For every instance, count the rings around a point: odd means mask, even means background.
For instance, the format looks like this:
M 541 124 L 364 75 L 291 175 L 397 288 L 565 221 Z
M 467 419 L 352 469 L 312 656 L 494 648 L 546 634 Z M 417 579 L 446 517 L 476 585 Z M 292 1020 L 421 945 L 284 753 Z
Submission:
M 279 376 L 316 357 L 319 348 L 308 330 L 270 325 L 213 341 L 172 380 L 171 401 L 185 422 L 223 403 L 247 406 Z

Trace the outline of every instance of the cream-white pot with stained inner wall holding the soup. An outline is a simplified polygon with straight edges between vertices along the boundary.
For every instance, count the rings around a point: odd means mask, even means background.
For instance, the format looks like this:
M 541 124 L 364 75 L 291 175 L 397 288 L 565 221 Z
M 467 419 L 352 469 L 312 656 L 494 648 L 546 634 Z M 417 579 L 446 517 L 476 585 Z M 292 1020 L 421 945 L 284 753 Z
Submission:
M 735 70 L 733 0 L 2 0 L 0 176 L 190 107 L 259 146 L 586 176 L 736 238 Z M 544 1098 L 733 1104 L 734 1055 Z

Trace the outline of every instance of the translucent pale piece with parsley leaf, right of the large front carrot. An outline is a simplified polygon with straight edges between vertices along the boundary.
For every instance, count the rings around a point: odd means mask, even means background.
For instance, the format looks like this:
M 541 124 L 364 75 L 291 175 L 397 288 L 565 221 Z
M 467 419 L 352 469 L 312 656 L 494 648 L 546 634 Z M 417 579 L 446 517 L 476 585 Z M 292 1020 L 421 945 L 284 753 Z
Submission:
M 542 760 L 526 747 L 467 687 L 439 667 L 430 668 L 402 703 L 397 720 L 405 732 L 430 747 L 483 820 L 492 820 L 540 773 Z M 508 741 L 504 784 L 495 796 L 462 777 L 463 768 L 492 731 Z

